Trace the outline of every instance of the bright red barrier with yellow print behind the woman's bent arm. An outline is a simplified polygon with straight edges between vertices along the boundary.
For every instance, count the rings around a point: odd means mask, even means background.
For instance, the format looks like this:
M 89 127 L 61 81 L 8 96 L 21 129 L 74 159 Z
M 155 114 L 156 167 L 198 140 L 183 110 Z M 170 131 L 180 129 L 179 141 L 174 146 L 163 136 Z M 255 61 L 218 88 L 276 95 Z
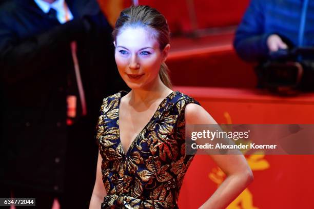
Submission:
M 279 97 L 254 89 L 176 87 L 198 101 L 218 123 L 289 124 L 314 122 L 314 94 Z M 249 155 L 254 181 L 229 209 L 314 208 L 314 155 Z M 218 184 L 217 165 L 197 155 L 185 176 L 180 208 L 198 208 Z M 219 176 L 221 180 L 224 175 Z

